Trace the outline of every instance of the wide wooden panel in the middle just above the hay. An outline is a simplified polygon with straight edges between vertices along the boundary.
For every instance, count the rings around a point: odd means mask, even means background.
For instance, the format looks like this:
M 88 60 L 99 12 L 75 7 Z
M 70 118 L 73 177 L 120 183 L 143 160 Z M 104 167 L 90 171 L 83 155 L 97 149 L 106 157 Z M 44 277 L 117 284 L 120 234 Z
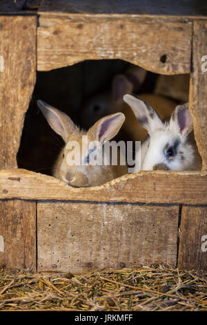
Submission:
M 177 205 L 37 203 L 38 270 L 176 265 L 178 213 Z

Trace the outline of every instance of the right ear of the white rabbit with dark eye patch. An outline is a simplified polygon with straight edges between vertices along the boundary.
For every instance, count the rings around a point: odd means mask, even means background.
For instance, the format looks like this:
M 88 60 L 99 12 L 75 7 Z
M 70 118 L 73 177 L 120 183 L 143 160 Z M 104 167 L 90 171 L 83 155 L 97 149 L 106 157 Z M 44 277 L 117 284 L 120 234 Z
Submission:
M 175 124 L 179 128 L 179 132 L 185 136 L 193 131 L 193 118 L 188 109 L 188 103 L 177 106 L 175 111 L 173 111 L 170 127 L 175 127 Z

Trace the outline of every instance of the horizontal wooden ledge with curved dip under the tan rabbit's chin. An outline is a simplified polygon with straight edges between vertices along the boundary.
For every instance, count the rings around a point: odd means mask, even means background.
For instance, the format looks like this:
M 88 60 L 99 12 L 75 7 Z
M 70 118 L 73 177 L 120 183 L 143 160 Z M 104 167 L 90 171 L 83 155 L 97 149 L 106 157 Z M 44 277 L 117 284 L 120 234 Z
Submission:
M 207 204 L 207 173 L 141 171 L 99 187 L 70 187 L 25 169 L 0 171 L 0 198 L 128 203 Z

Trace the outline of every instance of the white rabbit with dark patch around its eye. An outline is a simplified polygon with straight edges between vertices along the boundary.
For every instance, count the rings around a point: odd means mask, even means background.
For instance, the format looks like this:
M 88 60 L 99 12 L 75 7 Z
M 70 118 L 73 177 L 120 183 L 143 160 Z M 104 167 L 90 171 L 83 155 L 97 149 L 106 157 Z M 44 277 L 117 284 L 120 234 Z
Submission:
M 152 106 L 141 98 L 126 94 L 124 101 L 148 131 L 148 138 L 141 144 L 141 170 L 201 169 L 188 103 L 177 106 L 170 120 L 162 122 Z M 140 151 L 136 154 L 137 167 L 140 167 L 139 154 Z

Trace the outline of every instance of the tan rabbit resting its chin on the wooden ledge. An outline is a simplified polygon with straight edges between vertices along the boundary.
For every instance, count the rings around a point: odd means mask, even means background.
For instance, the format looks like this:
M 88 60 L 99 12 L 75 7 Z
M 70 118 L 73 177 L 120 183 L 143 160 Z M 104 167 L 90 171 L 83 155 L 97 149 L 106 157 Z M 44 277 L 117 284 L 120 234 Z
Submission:
M 100 148 L 91 150 L 88 146 L 92 141 L 99 141 L 101 145 L 103 145 L 103 142 L 116 136 L 125 120 L 123 113 L 115 113 L 101 118 L 101 120 L 97 121 L 88 132 L 86 132 L 79 130 L 65 113 L 41 100 L 38 100 L 37 104 L 50 127 L 59 134 L 66 143 L 55 162 L 52 176 L 63 180 L 63 182 L 72 187 L 88 187 L 101 185 L 127 173 L 127 165 L 119 164 L 119 159 L 121 159 L 119 155 L 118 165 L 111 165 L 110 157 L 108 157 L 110 165 L 92 165 L 92 157 L 99 155 L 100 158 L 101 155 L 102 158 L 103 152 Z M 83 136 L 88 136 L 88 144 L 82 141 Z M 79 152 L 81 154 L 79 165 L 68 165 L 67 156 L 71 151 L 68 145 L 70 145 L 72 141 L 76 141 L 76 143 L 79 144 Z M 78 153 L 75 152 L 75 154 Z M 104 154 L 106 153 L 104 152 Z

